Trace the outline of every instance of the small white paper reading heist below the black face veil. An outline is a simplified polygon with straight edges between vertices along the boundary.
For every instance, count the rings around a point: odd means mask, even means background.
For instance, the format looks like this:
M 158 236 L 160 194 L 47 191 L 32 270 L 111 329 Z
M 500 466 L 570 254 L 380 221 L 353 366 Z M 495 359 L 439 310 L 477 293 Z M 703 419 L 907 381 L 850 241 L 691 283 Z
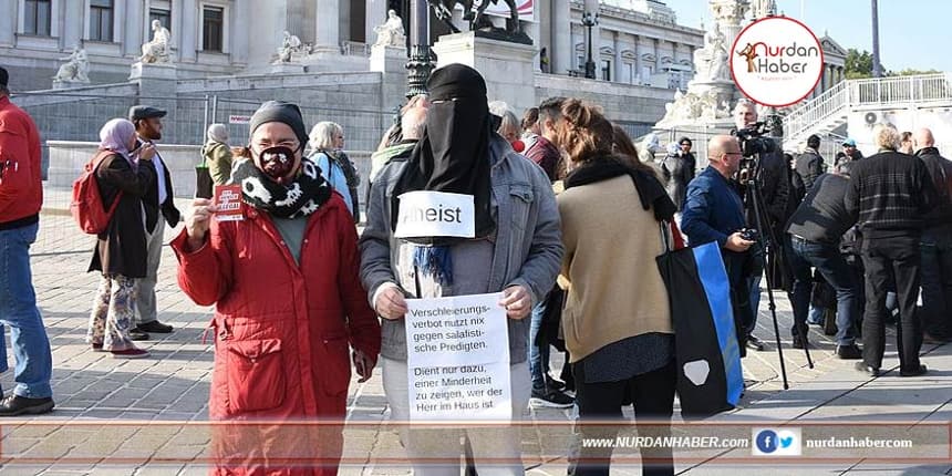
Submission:
M 476 236 L 476 205 L 472 195 L 417 190 L 400 196 L 396 238 Z

